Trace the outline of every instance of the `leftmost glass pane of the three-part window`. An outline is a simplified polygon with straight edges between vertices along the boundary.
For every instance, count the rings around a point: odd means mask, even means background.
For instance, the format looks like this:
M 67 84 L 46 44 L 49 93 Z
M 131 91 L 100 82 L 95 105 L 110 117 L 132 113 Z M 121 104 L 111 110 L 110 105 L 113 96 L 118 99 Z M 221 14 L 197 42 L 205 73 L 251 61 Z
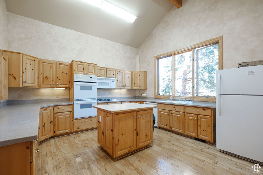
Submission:
M 159 95 L 170 95 L 172 93 L 172 57 L 158 59 Z

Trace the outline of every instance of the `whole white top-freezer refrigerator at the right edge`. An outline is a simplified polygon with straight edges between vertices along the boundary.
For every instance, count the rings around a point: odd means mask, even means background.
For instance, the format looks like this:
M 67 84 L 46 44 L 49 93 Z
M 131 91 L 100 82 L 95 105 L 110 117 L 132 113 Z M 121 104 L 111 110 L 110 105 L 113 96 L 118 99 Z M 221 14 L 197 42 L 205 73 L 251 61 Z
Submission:
M 263 165 L 263 65 L 216 71 L 216 147 Z

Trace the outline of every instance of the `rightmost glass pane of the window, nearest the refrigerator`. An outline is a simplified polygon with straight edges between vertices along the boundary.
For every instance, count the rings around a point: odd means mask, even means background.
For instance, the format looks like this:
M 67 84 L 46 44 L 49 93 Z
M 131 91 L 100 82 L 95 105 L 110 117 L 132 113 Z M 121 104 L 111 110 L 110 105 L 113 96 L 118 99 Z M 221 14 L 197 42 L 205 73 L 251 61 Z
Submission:
M 218 70 L 218 44 L 196 48 L 195 96 L 216 96 L 216 70 Z

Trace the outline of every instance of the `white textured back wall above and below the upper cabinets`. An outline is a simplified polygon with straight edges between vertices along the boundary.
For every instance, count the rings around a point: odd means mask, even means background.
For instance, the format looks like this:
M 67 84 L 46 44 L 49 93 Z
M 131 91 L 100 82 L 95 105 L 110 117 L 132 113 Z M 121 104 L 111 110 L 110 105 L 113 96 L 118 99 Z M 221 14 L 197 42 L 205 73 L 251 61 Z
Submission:
M 12 13 L 8 13 L 8 29 L 8 50 L 11 51 L 23 52 L 42 59 L 66 62 L 76 60 L 97 63 L 98 66 L 103 67 L 136 70 L 138 49 L 134 47 Z M 51 94 L 49 98 L 55 98 L 54 90 L 52 90 L 49 90 Z M 9 88 L 9 94 L 14 94 L 11 95 L 12 99 L 18 100 L 20 100 L 19 93 L 24 93 L 24 99 L 45 99 L 41 95 L 42 91 L 44 92 L 43 89 L 34 88 L 26 88 L 26 90 Z M 68 92 L 67 89 L 64 91 Z M 134 96 L 136 90 L 127 90 L 122 95 L 114 90 L 105 90 L 105 92 L 98 91 L 98 97 Z M 63 95 L 61 98 L 64 97 Z

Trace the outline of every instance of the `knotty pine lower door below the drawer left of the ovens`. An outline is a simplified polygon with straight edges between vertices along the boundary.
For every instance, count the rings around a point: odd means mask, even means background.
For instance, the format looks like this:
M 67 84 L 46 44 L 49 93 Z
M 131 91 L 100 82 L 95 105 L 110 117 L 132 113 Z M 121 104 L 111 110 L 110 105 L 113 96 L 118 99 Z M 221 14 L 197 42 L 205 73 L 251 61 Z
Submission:
M 54 135 L 71 131 L 72 112 L 54 114 Z

